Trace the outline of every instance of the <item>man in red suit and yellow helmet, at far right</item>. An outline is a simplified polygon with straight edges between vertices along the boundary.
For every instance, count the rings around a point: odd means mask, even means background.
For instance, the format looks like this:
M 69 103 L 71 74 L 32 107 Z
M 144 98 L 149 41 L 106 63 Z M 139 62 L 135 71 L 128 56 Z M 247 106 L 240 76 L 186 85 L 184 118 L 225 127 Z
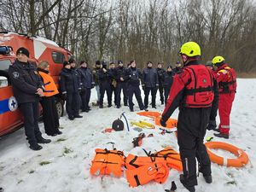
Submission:
M 234 68 L 228 66 L 222 56 L 215 56 L 212 59 L 212 64 L 218 67 L 218 114 L 220 119 L 220 124 L 218 125 L 219 133 L 214 133 L 214 136 L 228 139 L 230 132 L 230 112 L 236 94 L 236 72 Z

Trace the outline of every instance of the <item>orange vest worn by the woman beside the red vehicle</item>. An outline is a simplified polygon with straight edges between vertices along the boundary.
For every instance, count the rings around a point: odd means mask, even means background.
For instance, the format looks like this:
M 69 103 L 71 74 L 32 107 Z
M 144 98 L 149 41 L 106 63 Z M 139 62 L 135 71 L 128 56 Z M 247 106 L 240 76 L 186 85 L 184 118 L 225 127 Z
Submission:
M 44 96 L 55 96 L 59 93 L 54 79 L 49 74 L 44 72 L 38 72 L 44 81 Z

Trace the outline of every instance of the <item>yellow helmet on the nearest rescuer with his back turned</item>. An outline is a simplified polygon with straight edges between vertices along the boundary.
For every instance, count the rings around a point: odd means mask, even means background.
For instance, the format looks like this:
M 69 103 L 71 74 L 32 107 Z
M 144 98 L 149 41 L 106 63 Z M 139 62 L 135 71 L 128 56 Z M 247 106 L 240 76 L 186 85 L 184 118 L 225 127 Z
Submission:
M 187 55 L 189 57 L 192 56 L 200 56 L 201 55 L 201 49 L 198 44 L 195 42 L 187 42 L 182 45 L 180 48 L 179 54 Z

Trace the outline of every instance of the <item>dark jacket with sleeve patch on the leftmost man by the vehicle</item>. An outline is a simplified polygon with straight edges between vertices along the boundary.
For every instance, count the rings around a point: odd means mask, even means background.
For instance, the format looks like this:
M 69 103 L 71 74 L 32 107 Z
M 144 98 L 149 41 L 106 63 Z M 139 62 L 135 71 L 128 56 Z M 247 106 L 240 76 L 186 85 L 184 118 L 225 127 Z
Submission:
M 36 102 L 39 96 L 38 88 L 44 90 L 44 85 L 35 65 L 30 62 L 24 63 L 16 60 L 9 67 L 9 79 L 18 103 Z

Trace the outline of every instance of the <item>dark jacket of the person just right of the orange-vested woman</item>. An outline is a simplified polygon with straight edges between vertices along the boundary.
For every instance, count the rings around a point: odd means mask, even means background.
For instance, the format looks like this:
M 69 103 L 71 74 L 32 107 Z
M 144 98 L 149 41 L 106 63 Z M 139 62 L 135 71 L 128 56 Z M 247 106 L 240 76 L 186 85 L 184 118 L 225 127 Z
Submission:
M 60 73 L 60 89 L 62 94 L 79 92 L 81 89 L 79 73 L 74 69 L 62 68 Z

